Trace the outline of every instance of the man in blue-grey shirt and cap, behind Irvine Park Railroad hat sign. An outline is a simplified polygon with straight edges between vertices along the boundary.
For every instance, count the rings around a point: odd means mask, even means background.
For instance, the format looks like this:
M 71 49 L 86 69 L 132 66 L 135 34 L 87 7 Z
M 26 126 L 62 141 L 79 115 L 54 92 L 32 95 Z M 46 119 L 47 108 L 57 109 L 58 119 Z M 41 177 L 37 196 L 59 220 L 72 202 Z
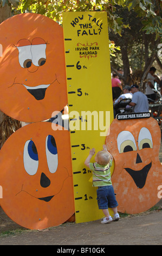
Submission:
M 139 86 L 137 86 L 137 84 L 131 86 L 131 93 L 133 93 L 133 97 L 129 105 L 133 107 L 133 112 L 148 112 L 147 96 L 139 91 Z

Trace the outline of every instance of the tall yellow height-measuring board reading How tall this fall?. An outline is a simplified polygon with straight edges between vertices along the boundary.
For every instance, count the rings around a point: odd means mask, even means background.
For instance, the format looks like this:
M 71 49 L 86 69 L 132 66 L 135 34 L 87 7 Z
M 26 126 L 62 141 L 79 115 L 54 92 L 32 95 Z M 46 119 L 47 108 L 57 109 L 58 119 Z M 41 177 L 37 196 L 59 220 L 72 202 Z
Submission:
M 96 200 L 97 187 L 92 186 L 92 172 L 84 162 L 89 149 L 102 149 L 113 121 L 107 14 L 63 13 L 63 31 L 75 221 L 81 223 L 103 217 Z

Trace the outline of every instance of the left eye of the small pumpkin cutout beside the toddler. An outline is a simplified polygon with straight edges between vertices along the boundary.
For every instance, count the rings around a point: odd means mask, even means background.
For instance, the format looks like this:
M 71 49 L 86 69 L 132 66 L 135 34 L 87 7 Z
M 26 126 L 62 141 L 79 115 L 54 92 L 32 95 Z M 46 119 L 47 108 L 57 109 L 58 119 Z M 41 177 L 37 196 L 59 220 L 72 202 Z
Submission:
M 119 153 L 126 153 L 129 151 L 137 150 L 134 136 L 129 131 L 122 131 L 119 133 L 117 138 L 117 144 Z

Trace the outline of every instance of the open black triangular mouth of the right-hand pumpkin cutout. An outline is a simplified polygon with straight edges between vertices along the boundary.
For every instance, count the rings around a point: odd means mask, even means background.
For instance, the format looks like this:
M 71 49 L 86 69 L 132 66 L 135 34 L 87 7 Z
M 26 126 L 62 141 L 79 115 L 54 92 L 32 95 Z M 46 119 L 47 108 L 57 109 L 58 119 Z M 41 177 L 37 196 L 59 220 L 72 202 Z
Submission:
M 124 169 L 126 170 L 127 173 L 131 175 L 132 179 L 135 182 L 135 185 L 138 188 L 142 188 L 145 186 L 147 174 L 151 169 L 151 167 L 152 167 L 152 162 L 148 163 L 141 170 L 133 170 L 131 168 L 124 168 Z

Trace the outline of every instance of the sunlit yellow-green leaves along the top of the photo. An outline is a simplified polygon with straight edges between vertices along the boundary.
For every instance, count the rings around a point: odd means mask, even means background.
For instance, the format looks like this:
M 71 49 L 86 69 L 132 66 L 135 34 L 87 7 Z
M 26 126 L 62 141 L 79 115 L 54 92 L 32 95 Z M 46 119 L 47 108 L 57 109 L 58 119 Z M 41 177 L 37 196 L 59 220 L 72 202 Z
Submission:
M 18 8 L 14 13 L 24 13 L 32 11 L 48 16 L 59 23 L 62 23 L 63 11 L 106 11 L 108 17 L 108 26 L 114 33 L 121 35 L 124 24 L 122 18 L 116 15 L 116 7 L 126 8 L 129 11 L 134 10 L 138 17 L 142 18 L 142 31 L 147 34 L 155 33 L 156 39 L 161 36 L 161 16 L 162 2 L 160 0 L 0 0 L 3 5 L 11 3 Z

